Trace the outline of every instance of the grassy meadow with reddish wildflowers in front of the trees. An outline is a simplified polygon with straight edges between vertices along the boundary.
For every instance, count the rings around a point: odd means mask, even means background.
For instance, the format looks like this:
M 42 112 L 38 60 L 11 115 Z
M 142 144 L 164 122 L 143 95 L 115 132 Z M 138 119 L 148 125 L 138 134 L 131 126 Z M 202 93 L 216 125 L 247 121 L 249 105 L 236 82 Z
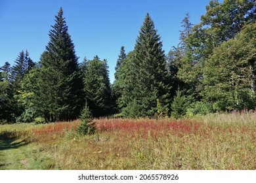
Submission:
M 0 169 L 256 169 L 256 112 L 0 125 Z

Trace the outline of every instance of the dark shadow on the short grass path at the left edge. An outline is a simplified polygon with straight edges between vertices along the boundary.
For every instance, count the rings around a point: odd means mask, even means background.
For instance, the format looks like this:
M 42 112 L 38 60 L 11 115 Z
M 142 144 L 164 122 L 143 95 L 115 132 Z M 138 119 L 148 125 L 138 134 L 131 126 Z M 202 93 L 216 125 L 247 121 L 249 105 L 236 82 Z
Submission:
M 0 133 L 0 151 L 9 150 L 12 148 L 19 148 L 28 144 L 28 141 L 16 141 L 16 135 L 9 131 L 3 131 Z

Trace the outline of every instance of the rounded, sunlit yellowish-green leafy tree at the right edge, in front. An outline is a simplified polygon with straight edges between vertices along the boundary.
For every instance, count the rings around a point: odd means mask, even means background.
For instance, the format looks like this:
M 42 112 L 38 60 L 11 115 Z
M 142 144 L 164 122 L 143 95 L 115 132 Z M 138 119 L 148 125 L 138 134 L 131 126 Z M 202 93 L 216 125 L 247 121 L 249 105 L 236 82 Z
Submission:
M 255 61 L 256 24 L 249 24 L 205 62 L 205 97 L 221 110 L 255 107 Z

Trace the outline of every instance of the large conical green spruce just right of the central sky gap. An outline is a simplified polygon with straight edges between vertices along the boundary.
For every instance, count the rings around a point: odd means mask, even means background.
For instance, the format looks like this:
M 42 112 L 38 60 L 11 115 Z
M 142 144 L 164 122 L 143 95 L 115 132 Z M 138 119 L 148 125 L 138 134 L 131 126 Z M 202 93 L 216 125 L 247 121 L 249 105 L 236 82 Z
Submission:
M 156 114 L 157 101 L 163 107 L 169 104 L 169 89 L 165 55 L 154 22 L 146 14 L 135 45 L 134 57 L 127 61 L 127 81 L 121 97 L 125 116 L 150 116 Z M 120 68 L 121 69 L 121 68 Z

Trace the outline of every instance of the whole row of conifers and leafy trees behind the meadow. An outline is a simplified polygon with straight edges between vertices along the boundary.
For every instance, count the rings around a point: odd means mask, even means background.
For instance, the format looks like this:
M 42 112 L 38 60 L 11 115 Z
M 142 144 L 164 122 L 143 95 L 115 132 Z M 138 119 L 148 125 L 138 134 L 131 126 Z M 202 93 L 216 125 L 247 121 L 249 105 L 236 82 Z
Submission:
M 0 121 L 95 117 L 165 118 L 254 109 L 256 6 L 253 0 L 210 1 L 200 23 L 186 14 L 180 42 L 168 54 L 146 14 L 133 51 L 121 46 L 114 84 L 106 59 L 78 63 L 60 8 L 40 61 L 20 52 L 0 70 Z

